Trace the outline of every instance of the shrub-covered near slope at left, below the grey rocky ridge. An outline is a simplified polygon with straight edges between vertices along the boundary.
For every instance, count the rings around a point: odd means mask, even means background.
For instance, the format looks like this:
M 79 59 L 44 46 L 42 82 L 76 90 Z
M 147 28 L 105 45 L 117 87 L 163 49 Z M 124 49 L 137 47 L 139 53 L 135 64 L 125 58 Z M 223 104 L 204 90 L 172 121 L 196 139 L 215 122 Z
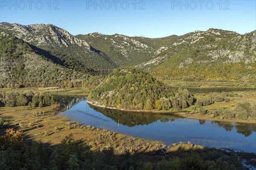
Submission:
M 26 86 L 55 85 L 67 80 L 88 77 L 90 70 L 78 72 L 67 68 L 55 56 L 12 35 L 0 32 L 0 82 L 20 82 Z

